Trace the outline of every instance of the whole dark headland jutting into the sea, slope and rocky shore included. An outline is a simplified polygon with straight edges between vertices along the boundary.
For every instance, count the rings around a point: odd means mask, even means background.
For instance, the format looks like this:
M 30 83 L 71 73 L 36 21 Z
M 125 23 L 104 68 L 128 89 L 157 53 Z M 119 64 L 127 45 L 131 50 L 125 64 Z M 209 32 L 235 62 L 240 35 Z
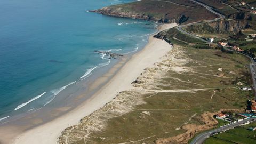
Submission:
M 159 23 L 186 23 L 211 20 L 218 16 L 189 0 L 142 0 L 103 7 L 93 12 L 115 17 L 137 18 Z

